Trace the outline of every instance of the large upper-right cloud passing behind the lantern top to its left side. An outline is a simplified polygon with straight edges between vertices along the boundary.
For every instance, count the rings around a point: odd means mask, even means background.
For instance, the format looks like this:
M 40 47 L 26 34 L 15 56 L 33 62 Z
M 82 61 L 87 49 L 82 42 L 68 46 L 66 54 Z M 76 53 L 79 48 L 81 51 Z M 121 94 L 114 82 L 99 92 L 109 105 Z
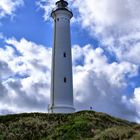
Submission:
M 56 0 L 39 0 L 44 9 L 45 20 Z M 98 37 L 101 44 L 107 46 L 110 54 L 119 60 L 140 64 L 140 2 L 138 0 L 69 0 L 75 11 L 75 20 L 89 31 L 92 37 Z

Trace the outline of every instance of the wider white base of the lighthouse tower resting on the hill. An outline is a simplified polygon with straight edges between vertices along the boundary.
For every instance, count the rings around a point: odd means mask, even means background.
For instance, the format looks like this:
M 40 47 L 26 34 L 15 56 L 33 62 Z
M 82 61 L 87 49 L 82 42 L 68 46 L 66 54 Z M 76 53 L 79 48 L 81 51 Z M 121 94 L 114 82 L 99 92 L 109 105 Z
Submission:
M 55 105 L 55 106 L 50 105 L 48 107 L 48 112 L 49 113 L 64 113 L 64 114 L 67 114 L 67 113 L 74 113 L 75 109 L 74 109 L 73 106 L 70 106 L 70 105 Z

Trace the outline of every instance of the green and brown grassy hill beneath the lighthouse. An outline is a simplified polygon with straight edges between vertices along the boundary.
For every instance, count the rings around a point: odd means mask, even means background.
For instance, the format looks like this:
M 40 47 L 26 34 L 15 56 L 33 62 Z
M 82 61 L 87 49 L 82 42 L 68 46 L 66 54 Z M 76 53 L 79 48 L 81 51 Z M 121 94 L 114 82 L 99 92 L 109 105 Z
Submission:
M 7 115 L 0 140 L 140 140 L 140 125 L 94 111 Z

